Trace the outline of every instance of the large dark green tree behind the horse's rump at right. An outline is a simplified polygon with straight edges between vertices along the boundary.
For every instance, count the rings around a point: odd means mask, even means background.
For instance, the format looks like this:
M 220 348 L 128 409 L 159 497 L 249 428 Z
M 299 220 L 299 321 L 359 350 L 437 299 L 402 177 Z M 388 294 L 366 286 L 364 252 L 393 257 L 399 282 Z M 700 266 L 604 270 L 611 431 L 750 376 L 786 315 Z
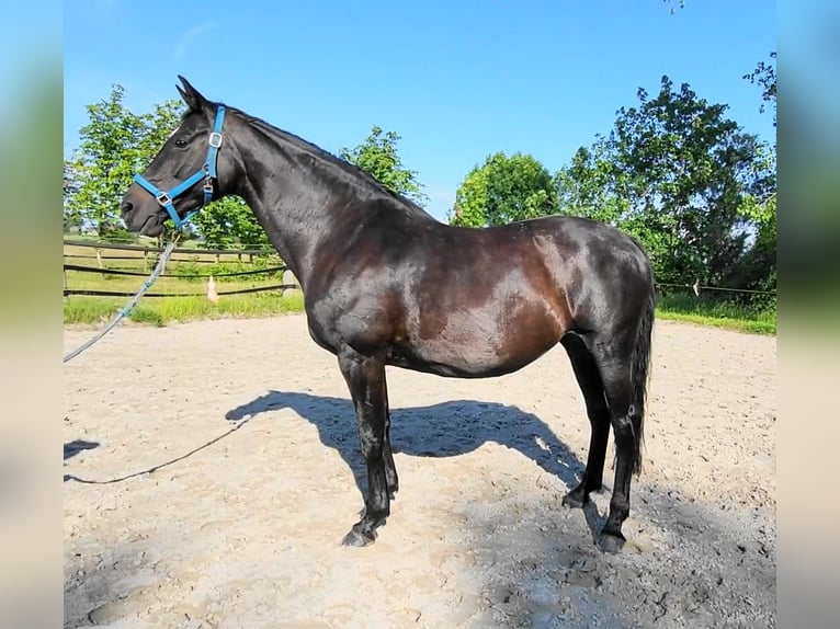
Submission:
M 639 90 L 638 99 L 617 112 L 594 157 L 579 151 L 561 169 L 561 210 L 593 216 L 603 204 L 609 221 L 644 243 L 660 282 L 725 283 L 756 229 L 747 199 L 774 191 L 767 146 L 725 116 L 727 105 L 685 83 L 674 90 L 668 77 L 655 98 Z

